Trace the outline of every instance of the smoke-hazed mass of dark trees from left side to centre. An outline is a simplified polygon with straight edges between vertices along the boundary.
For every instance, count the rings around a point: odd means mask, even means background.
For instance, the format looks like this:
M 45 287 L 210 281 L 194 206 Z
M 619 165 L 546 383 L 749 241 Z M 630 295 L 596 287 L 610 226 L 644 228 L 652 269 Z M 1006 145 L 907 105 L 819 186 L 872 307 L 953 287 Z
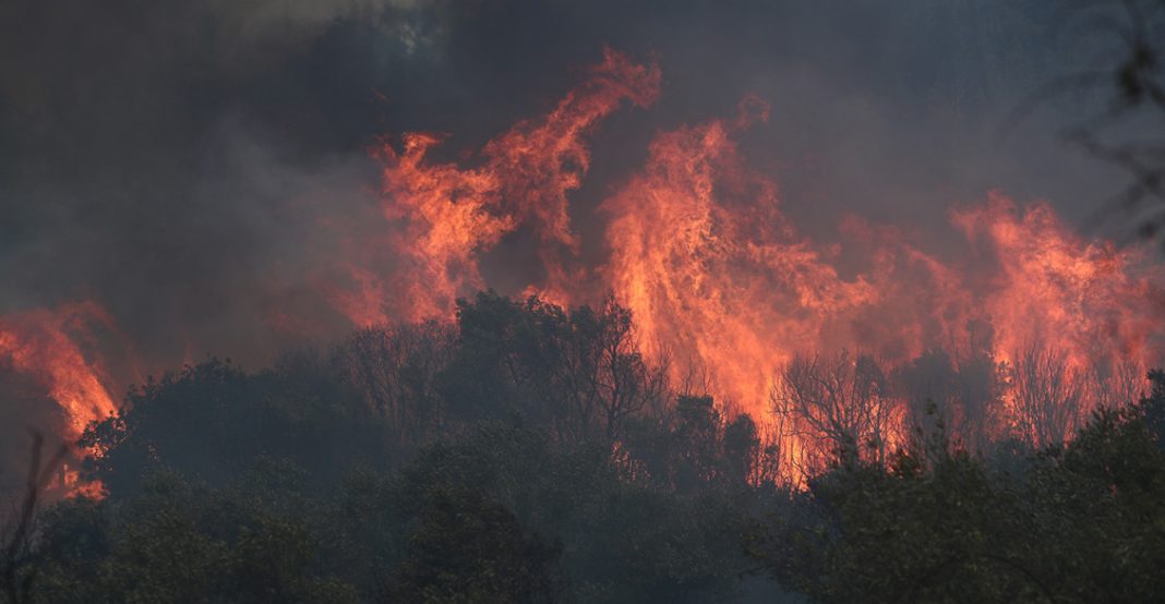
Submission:
M 615 305 L 485 293 L 458 327 L 365 329 L 271 370 L 211 360 L 135 390 L 85 435 L 108 498 L 43 517 L 42 599 L 737 592 L 749 418 L 663 405 Z

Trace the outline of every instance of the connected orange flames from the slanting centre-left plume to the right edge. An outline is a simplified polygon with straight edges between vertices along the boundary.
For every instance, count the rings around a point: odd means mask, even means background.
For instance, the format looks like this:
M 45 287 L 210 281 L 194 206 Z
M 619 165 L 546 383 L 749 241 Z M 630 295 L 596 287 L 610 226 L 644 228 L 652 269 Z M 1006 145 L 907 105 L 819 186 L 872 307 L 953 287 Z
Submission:
M 1135 376 L 1160 358 L 1159 267 L 1136 250 L 1086 241 L 1046 204 L 1019 207 L 993 194 L 952 212 L 967 248 L 955 260 L 854 216 L 841 219 L 845 247 L 812 241 L 782 213 L 777 184 L 749 169 L 734 141 L 768 118 L 754 98 L 732 120 L 658 133 L 645 165 L 600 206 L 606 260 L 581 267 L 567 209 L 589 166 L 585 136 L 623 100 L 650 105 L 661 79 L 657 67 L 610 50 L 588 76 L 550 113 L 486 144 L 472 166 L 429 162 L 440 142 L 429 134 L 377 151 L 382 209 L 401 227 L 391 242 L 400 264 L 386 275 L 352 270 L 356 286 L 337 299 L 353 322 L 451 319 L 457 297 L 489 285 L 481 255 L 529 228 L 542 277 L 520 287 L 523 294 L 563 305 L 613 296 L 633 312 L 644 351 L 669 361 L 677 388 L 705 389 L 784 426 L 774 429 L 790 434 L 790 460 L 821 447 L 799 420 L 775 411 L 781 381 L 802 355 L 864 363 L 864 374 L 876 368 L 881 377 L 870 384 L 878 391 L 863 395 L 876 399 L 875 419 L 862 431 L 883 447 L 905 443 L 911 421 L 890 374 L 927 350 L 944 350 L 955 368 L 986 358 L 984 375 L 997 369 L 1001 388 L 1011 390 L 991 395 L 1001 417 L 983 425 L 994 436 L 1026 434 L 1039 445 L 1071 432 L 1086 410 L 1037 431 L 1037 420 L 1021 417 L 1035 413 L 1028 398 L 1075 405 L 1087 388 L 1088 400 L 1124 403 L 1136 397 Z M 861 265 L 842 269 L 842 253 L 855 250 Z M 1022 351 L 1030 363 L 1016 361 Z M 1019 379 L 1046 358 L 1066 360 L 1069 371 L 1057 379 L 1071 384 Z M 853 367 L 831 368 L 854 379 Z M 969 412 L 954 413 L 958 424 Z

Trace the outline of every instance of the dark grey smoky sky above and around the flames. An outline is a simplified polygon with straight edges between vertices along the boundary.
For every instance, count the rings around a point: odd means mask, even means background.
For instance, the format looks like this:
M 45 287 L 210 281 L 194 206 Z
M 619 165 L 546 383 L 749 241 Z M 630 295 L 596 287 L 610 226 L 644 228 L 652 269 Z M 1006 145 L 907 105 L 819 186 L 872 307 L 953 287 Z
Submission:
M 655 133 L 732 116 L 746 94 L 772 113 L 744 155 L 826 241 L 856 214 L 941 247 L 947 209 L 991 190 L 1079 221 L 1122 185 L 1059 136 L 1090 97 L 1009 122 L 1104 59 L 1065 23 L 1046 0 L 9 1 L 0 311 L 93 299 L 165 362 L 262 362 L 294 343 L 273 312 L 338 333 L 306 276 L 382 228 L 369 145 L 447 133 L 439 155 L 463 158 L 552 107 L 605 44 L 664 80 L 593 137 L 572 208 L 585 254 L 602 254 L 594 206 Z

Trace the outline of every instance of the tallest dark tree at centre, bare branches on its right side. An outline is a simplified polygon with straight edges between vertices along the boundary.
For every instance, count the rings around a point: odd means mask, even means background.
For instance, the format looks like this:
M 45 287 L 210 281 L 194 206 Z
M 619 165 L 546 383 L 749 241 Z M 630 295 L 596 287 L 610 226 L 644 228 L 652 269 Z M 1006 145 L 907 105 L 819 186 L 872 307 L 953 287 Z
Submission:
M 613 441 L 663 397 L 663 368 L 643 358 L 630 313 L 614 303 L 567 313 L 479 293 L 459 301 L 458 326 L 444 392 L 469 418 L 516 414 L 562 438 Z

